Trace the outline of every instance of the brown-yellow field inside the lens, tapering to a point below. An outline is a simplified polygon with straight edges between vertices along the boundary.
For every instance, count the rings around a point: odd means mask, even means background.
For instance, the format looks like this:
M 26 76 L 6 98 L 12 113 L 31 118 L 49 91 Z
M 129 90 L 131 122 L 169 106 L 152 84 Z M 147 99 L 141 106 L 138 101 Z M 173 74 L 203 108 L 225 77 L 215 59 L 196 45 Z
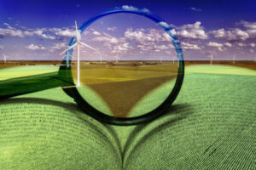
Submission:
M 95 91 L 114 116 L 125 117 L 146 94 L 177 77 L 177 63 L 151 63 L 152 65 L 136 66 L 130 62 L 116 65 L 81 65 L 81 84 Z M 76 74 L 74 65 L 75 82 Z

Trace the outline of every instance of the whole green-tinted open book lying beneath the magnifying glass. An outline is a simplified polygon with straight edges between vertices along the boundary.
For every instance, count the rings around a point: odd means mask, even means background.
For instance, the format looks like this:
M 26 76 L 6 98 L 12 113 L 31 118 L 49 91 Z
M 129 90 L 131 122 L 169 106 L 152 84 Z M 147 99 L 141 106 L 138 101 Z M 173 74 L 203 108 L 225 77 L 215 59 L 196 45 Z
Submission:
M 118 127 L 61 88 L 0 102 L 0 169 L 255 169 L 256 71 L 188 66 L 172 108 Z

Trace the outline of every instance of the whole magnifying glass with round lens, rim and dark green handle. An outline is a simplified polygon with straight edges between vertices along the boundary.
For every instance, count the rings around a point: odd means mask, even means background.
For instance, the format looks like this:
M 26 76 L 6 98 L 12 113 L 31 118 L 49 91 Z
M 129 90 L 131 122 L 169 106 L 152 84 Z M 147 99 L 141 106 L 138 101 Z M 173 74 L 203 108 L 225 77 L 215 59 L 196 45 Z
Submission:
M 113 125 L 150 122 L 183 83 L 176 32 L 146 8 L 123 6 L 76 26 L 59 71 L 0 82 L 0 99 L 61 87 L 84 113 Z

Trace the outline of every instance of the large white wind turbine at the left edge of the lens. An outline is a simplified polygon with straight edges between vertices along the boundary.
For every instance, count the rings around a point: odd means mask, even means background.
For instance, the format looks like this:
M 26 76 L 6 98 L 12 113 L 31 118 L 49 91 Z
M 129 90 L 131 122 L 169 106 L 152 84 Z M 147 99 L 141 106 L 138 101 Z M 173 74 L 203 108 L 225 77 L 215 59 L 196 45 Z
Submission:
M 75 26 L 76 26 L 76 38 L 77 38 L 77 42 L 75 42 L 75 44 L 73 44 L 71 47 L 67 48 L 65 51 L 63 51 L 61 54 L 67 52 L 68 50 L 74 48 L 75 46 L 77 46 L 78 49 L 78 82 L 77 82 L 77 86 L 80 86 L 80 45 L 86 47 L 86 48 L 90 48 L 96 52 L 98 52 L 98 50 L 96 50 L 96 48 L 92 48 L 90 47 L 90 45 L 87 45 L 84 42 L 80 42 L 81 40 L 81 31 L 78 30 L 78 26 L 77 26 L 77 21 L 75 21 Z

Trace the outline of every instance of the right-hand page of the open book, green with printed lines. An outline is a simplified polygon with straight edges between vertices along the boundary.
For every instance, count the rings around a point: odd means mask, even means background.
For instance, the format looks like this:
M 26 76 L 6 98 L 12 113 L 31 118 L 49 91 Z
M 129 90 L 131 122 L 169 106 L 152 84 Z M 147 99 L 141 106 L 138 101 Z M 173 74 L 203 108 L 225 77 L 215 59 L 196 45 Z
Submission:
M 124 169 L 254 169 L 255 80 L 186 75 L 170 111 L 131 130 Z

